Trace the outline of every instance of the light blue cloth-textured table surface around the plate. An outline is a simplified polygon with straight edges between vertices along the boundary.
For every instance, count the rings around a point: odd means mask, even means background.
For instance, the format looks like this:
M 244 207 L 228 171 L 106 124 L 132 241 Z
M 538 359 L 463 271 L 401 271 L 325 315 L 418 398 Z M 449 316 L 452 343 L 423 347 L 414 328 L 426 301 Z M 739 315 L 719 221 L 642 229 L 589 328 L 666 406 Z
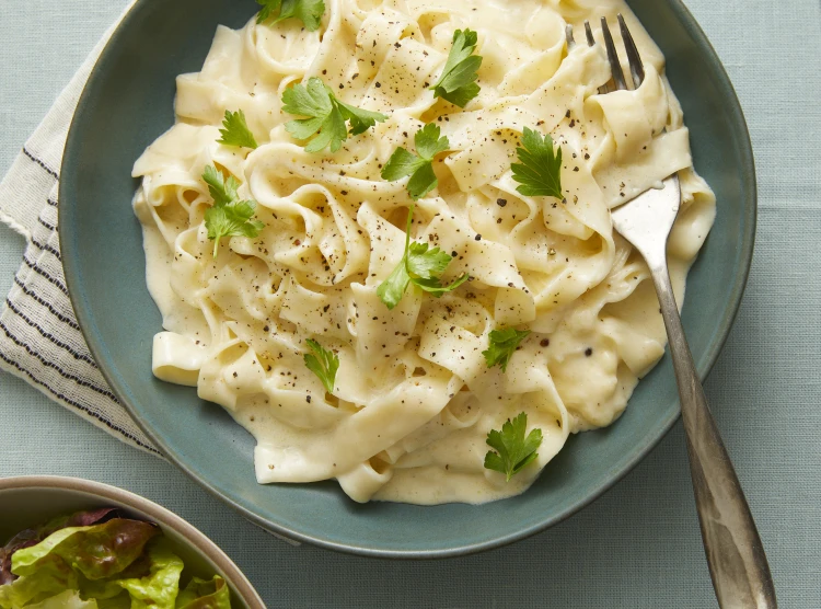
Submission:
M 0 0 L 0 174 L 125 4 Z M 760 186 L 750 284 L 707 397 L 756 517 L 780 607 L 821 609 L 821 10 L 818 0 L 687 5 L 736 84 Z M 0 227 L 2 295 L 23 248 Z M 0 476 L 20 474 L 78 475 L 169 507 L 219 543 L 269 607 L 717 606 L 681 426 L 566 522 L 512 547 L 439 562 L 287 545 L 172 466 L 0 372 Z

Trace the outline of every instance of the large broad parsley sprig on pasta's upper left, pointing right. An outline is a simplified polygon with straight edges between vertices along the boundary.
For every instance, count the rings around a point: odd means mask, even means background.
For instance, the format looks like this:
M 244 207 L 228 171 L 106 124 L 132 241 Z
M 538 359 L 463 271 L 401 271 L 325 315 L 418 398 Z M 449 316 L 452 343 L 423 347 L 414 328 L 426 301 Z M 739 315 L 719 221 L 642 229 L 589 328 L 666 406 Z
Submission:
M 282 111 L 297 116 L 308 116 L 287 123 L 285 128 L 297 139 L 309 139 L 316 135 L 305 146 L 308 152 L 320 152 L 328 145 L 331 151 L 336 152 L 343 141 L 348 139 L 346 122 L 350 122 L 350 135 L 358 136 L 377 122 L 388 118 L 379 112 L 361 110 L 340 102 L 322 79 L 310 78 L 308 84 L 294 84 L 282 93 Z

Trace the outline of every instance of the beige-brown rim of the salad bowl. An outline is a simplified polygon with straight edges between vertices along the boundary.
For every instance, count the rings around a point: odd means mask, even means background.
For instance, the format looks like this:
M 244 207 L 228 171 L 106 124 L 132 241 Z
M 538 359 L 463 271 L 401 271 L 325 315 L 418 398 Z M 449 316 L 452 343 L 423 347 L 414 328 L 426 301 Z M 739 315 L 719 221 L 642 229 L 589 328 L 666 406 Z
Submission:
M 163 528 L 178 533 L 199 554 L 213 562 L 226 574 L 228 584 L 242 598 L 250 609 L 265 609 L 265 604 L 240 567 L 226 554 L 219 545 L 211 541 L 194 525 L 184 520 L 170 509 L 146 497 L 118 489 L 102 482 L 94 482 L 82 478 L 61 475 L 19 475 L 0 479 L 0 494 L 4 491 L 23 490 L 57 490 L 79 491 L 93 495 L 101 501 L 111 501 L 147 514 Z

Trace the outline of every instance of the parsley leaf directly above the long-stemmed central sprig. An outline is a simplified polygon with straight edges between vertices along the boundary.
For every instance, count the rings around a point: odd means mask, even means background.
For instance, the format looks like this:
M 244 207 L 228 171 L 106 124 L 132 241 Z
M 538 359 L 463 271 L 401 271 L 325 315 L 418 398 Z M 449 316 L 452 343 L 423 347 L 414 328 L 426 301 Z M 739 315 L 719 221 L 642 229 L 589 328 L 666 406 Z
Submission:
M 439 180 L 433 173 L 433 157 L 450 148 L 448 138 L 440 138 L 440 135 L 439 127 L 432 123 L 416 131 L 414 142 L 418 156 L 397 148 L 382 169 L 382 179 L 395 182 L 409 175 L 407 192 L 414 200 L 436 188 Z

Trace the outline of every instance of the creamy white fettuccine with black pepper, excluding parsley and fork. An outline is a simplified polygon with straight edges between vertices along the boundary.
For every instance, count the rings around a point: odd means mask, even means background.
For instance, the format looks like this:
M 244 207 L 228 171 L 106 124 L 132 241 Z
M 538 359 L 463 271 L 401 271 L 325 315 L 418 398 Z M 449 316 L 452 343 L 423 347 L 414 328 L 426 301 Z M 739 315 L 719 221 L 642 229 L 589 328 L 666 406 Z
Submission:
M 616 12 L 647 66 L 637 91 L 599 95 L 601 45 L 568 53 L 564 26 Z M 177 80 L 177 123 L 135 165 L 148 285 L 165 332 L 158 378 L 196 387 L 257 440 L 261 483 L 337 479 L 359 502 L 482 503 L 518 494 L 568 434 L 610 425 L 666 343 L 646 265 L 610 208 L 679 172 L 670 240 L 679 301 L 715 200 L 692 169 L 663 58 L 621 1 L 328 0 L 323 25 L 220 27 L 203 71 Z M 478 32 L 482 92 L 435 100 L 453 32 Z M 599 33 L 597 32 L 597 36 Z M 616 34 L 617 35 L 617 34 Z M 616 41 L 620 44 L 621 41 Z M 320 77 L 345 102 L 389 115 L 336 153 L 285 130 L 286 88 Z M 243 110 L 261 146 L 219 145 Z M 389 310 L 379 284 L 403 254 L 410 199 L 380 170 L 436 122 L 451 150 L 416 207 L 413 238 L 453 253 L 441 299 L 410 288 Z M 564 200 L 524 197 L 510 163 L 524 127 L 562 146 Z M 201 174 L 216 164 L 258 202 L 258 238 L 204 226 Z M 507 372 L 482 356 L 494 329 L 531 330 Z M 333 395 L 303 364 L 305 341 L 338 353 Z M 488 430 L 520 412 L 542 429 L 539 459 L 511 482 L 486 470 Z

